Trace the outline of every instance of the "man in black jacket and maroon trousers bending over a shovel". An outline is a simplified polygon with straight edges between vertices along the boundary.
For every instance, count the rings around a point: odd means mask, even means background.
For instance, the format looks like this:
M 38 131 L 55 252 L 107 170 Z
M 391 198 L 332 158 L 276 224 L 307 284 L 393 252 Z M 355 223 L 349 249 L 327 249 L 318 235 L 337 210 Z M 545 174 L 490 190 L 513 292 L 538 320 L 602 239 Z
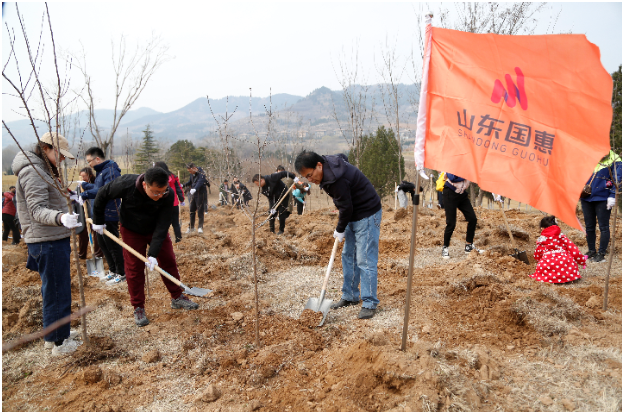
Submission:
M 152 167 L 142 175 L 123 175 L 99 189 L 93 205 L 93 230 L 103 234 L 106 204 L 121 199 L 121 237 L 131 248 L 144 255 L 147 252 L 150 270 L 160 266 L 179 279 L 173 243 L 168 228 L 173 217 L 174 193 L 168 186 L 168 174 Z M 147 251 L 149 245 L 149 251 Z M 145 314 L 145 272 L 143 261 L 123 250 L 127 288 L 134 306 L 134 322 L 149 324 Z M 162 276 L 171 294 L 173 309 L 198 309 L 199 305 L 182 294 L 182 289 Z

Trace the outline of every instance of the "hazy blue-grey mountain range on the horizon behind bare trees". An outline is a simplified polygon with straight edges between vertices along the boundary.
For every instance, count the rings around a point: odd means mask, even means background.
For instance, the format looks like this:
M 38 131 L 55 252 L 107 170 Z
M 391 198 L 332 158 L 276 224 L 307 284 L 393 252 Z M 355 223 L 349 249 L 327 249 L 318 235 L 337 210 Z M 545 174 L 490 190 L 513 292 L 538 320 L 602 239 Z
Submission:
M 367 86 L 365 104 L 368 113 L 371 114 L 372 110 L 374 113 L 374 123 L 367 123 L 370 130 L 375 129 L 378 124 L 387 123 L 383 109 L 382 90 L 383 85 Z M 359 85 L 352 86 L 350 90 L 354 96 L 362 91 L 363 87 Z M 400 84 L 398 91 L 400 94 L 401 123 L 414 123 L 414 120 L 411 119 L 415 113 L 412 101 L 413 98 L 415 100 L 418 98 L 418 87 L 417 85 Z M 217 128 L 214 116 L 221 123 L 225 116 L 229 116 L 229 124 L 233 130 L 238 133 L 249 133 L 252 131 L 248 122 L 249 100 L 248 96 L 230 96 L 229 98 L 210 100 L 208 104 L 207 98 L 201 97 L 168 113 L 157 112 L 147 107 L 130 110 L 120 124 L 116 141 L 119 142 L 126 133 L 129 133 L 135 141 L 140 139 L 142 130 L 149 124 L 154 136 L 162 143 L 173 143 L 180 139 L 199 142 L 206 136 L 214 135 Z M 271 98 L 253 97 L 254 118 L 261 119 L 265 116 L 265 109 L 269 107 L 277 113 L 277 123 L 281 131 L 290 127 L 302 127 L 306 132 L 317 132 L 318 136 L 336 135 L 339 131 L 339 125 L 334 119 L 334 114 L 336 113 L 339 119 L 346 120 L 349 118 L 349 112 L 343 100 L 343 91 L 333 91 L 327 87 L 320 87 L 305 97 L 286 93 L 275 94 Z M 292 119 L 288 113 L 294 114 L 296 119 Z M 100 129 L 105 132 L 112 124 L 113 111 L 98 109 L 96 117 Z M 289 120 L 285 120 L 286 118 Z M 79 113 L 77 124 L 80 130 L 86 127 L 88 124 L 88 113 L 86 111 Z M 36 123 L 36 125 L 39 130 L 45 132 L 46 126 L 43 123 Z M 8 122 L 8 126 L 21 144 L 30 147 L 34 143 L 35 138 L 28 120 Z M 342 127 L 345 127 L 345 124 L 342 124 Z M 90 144 L 93 140 L 88 130 L 84 133 L 84 140 L 86 141 L 85 144 Z M 2 147 L 4 148 L 12 143 L 13 140 L 3 128 Z

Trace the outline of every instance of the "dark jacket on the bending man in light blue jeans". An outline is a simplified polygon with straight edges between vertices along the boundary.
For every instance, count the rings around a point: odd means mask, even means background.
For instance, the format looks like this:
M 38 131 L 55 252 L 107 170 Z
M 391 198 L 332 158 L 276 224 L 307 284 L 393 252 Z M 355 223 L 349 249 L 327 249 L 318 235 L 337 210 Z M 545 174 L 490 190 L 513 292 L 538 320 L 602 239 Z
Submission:
M 320 189 L 333 198 L 339 209 L 337 232 L 343 233 L 350 222 L 374 215 L 380 209 L 380 196 L 363 172 L 348 163 L 344 154 L 322 156 L 324 177 Z

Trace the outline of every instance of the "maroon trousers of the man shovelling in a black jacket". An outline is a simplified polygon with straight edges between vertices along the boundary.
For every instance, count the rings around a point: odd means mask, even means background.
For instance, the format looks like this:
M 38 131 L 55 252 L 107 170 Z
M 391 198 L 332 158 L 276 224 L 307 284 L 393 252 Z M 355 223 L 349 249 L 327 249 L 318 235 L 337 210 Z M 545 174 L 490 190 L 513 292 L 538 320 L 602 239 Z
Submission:
M 147 244 L 151 243 L 152 235 L 140 235 L 121 226 L 121 237 L 131 248 L 138 251 L 141 255 L 147 252 Z M 177 262 L 175 260 L 175 252 L 173 252 L 173 243 L 171 237 L 167 234 L 160 253 L 156 257 L 158 266 L 168 272 L 175 279 L 179 279 L 179 271 L 177 270 Z M 138 259 L 133 254 L 123 249 L 123 261 L 125 263 L 125 276 L 127 281 L 127 289 L 130 292 L 130 303 L 134 308 L 145 307 L 145 262 Z M 161 276 L 164 285 L 171 294 L 171 299 L 177 299 L 181 296 L 183 290 L 171 282 L 168 278 Z

